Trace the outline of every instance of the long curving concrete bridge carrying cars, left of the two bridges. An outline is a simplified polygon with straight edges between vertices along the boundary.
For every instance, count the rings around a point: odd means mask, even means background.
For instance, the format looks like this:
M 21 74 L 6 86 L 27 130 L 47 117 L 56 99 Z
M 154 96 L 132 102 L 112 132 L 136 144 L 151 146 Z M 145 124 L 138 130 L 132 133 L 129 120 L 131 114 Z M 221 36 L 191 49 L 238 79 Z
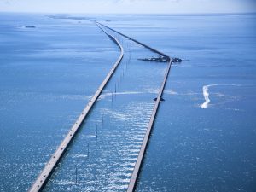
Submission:
M 102 29 L 101 26 L 99 26 L 99 27 Z M 44 185 L 47 183 L 47 181 L 49 180 L 49 177 L 54 172 L 55 167 L 58 165 L 59 161 L 61 160 L 61 157 L 66 152 L 69 144 L 73 141 L 73 138 L 75 137 L 76 133 L 79 131 L 79 128 L 83 124 L 84 119 L 90 113 L 90 109 L 96 103 L 98 97 L 102 93 L 102 90 L 108 84 L 109 79 L 111 79 L 114 71 L 119 66 L 119 63 L 122 61 L 122 59 L 124 57 L 124 49 L 123 49 L 122 45 L 119 43 L 119 41 L 116 38 L 114 38 L 111 34 L 108 34 L 108 32 L 106 32 L 104 29 L 102 29 L 102 31 L 105 32 L 108 35 L 108 37 L 111 38 L 113 40 L 113 42 L 119 46 L 119 49 L 120 49 L 119 59 L 114 63 L 114 65 L 111 68 L 110 72 L 108 73 L 107 77 L 103 80 L 102 84 L 96 90 L 95 95 L 92 96 L 92 98 L 90 99 L 90 102 L 86 105 L 83 112 L 79 115 L 79 118 L 73 124 L 71 130 L 67 133 L 67 136 L 61 142 L 60 146 L 56 149 L 55 153 L 52 155 L 52 157 L 50 158 L 50 160 L 44 167 L 44 170 L 40 173 L 40 175 L 38 176 L 36 181 L 32 184 L 32 187 L 31 187 L 31 189 L 29 189 L 29 192 L 38 192 L 44 188 Z

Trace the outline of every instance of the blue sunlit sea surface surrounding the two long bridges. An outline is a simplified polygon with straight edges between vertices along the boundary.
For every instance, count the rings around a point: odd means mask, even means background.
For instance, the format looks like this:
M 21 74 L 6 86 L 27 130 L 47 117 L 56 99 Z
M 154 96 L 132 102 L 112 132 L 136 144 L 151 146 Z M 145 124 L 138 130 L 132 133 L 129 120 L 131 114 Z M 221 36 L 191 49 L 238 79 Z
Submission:
M 256 191 L 256 15 L 0 14 L 0 191 L 26 191 L 119 57 L 173 57 L 137 191 Z M 166 63 L 125 57 L 44 191 L 125 191 Z M 185 61 L 189 60 L 189 61 Z

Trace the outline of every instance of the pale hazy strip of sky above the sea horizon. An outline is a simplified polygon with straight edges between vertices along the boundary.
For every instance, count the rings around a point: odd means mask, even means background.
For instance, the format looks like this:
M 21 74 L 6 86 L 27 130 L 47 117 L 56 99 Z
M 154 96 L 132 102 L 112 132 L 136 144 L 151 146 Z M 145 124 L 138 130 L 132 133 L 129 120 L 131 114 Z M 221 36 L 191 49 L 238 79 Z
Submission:
M 0 11 L 83 14 L 255 12 L 256 0 L 0 0 Z

